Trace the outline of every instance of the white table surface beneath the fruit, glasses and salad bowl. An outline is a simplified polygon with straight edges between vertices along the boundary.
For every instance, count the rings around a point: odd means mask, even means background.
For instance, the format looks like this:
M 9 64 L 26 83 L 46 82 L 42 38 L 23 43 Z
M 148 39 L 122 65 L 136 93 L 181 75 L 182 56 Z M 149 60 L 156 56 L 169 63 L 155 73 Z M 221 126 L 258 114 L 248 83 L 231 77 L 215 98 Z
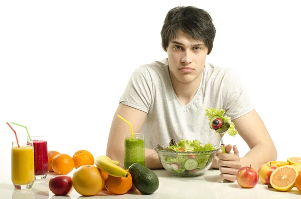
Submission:
M 69 173 L 72 176 L 73 172 Z M 43 198 L 264 198 L 264 199 L 293 199 L 301 198 L 301 192 L 293 187 L 287 192 L 276 191 L 273 188 L 267 188 L 259 180 L 254 188 L 241 188 L 237 182 L 221 181 L 220 172 L 217 169 L 209 169 L 202 176 L 197 177 L 175 177 L 165 169 L 154 170 L 159 177 L 159 188 L 150 195 L 142 195 L 139 191 L 129 191 L 123 195 L 114 195 L 104 190 L 95 196 L 81 196 L 75 189 L 68 196 L 54 195 L 48 186 L 49 179 L 54 175 L 48 173 L 47 178 L 40 182 L 35 182 L 31 191 L 27 192 L 14 190 L 11 179 L 2 179 L 0 183 L 0 198 L 20 198 L 20 199 L 43 199 Z

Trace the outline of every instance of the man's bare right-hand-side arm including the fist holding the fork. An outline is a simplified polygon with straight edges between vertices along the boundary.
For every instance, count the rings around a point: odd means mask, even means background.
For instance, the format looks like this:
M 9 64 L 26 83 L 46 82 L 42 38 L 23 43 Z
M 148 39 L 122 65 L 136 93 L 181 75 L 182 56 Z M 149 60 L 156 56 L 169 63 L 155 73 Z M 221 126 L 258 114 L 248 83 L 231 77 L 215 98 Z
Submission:
M 277 159 L 277 151 L 269 136 L 264 123 L 255 110 L 233 120 L 239 135 L 250 147 L 244 157 L 239 157 L 238 149 L 233 145 L 234 154 L 231 153 L 232 145 L 226 146 L 227 153 L 219 153 L 218 167 L 221 178 L 229 181 L 236 180 L 236 174 L 242 166 L 250 166 L 258 170 L 259 167 L 271 160 Z

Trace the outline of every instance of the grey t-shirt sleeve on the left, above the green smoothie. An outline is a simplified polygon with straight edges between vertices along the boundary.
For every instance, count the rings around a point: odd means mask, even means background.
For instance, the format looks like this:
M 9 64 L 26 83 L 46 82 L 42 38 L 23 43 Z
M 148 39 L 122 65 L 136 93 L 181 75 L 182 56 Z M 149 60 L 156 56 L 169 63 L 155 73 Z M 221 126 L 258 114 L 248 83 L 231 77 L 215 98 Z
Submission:
M 119 103 L 148 113 L 152 107 L 153 83 L 145 66 L 138 67 L 131 75 Z

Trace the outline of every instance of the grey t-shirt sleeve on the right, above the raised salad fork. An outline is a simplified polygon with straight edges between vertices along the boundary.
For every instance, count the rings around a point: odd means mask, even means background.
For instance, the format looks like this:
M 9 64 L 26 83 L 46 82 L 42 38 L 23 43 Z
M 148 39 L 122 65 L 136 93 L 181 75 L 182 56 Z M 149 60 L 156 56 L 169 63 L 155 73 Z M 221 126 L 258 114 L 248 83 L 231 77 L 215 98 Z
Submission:
M 241 79 L 231 69 L 225 73 L 222 91 L 223 109 L 231 119 L 241 117 L 254 109 Z

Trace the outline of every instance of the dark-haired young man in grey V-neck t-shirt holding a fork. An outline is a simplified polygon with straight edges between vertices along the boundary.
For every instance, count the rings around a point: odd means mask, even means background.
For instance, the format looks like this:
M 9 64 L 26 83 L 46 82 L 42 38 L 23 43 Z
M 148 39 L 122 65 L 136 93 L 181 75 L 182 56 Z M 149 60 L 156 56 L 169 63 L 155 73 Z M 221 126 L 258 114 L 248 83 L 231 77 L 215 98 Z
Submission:
M 215 37 L 210 15 L 195 7 L 176 7 L 166 16 L 161 36 L 168 58 L 138 67 L 129 79 L 114 115 L 107 144 L 107 156 L 123 163 L 124 134 L 143 133 L 145 166 L 163 168 L 154 149 L 157 144 L 184 139 L 219 145 L 220 137 L 209 127 L 205 109 L 224 109 L 239 135 L 250 147 L 243 157 L 226 146 L 212 164 L 222 179 L 236 180 L 242 166 L 258 169 L 276 160 L 277 152 L 267 129 L 250 103 L 240 80 L 228 68 L 206 62 Z M 263 153 L 264 151 L 264 153 Z

